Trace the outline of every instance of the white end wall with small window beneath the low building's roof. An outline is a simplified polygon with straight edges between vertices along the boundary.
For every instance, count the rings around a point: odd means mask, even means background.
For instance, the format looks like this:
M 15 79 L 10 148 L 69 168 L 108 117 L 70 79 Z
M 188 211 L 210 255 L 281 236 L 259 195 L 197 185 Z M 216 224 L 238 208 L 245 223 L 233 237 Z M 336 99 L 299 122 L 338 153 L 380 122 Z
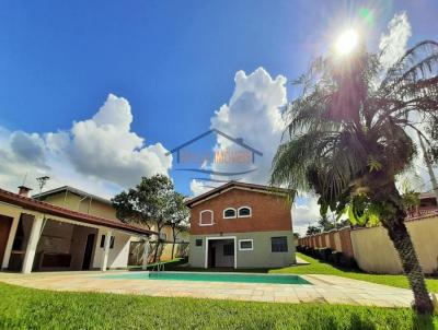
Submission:
M 104 248 L 101 248 L 102 235 L 106 235 L 107 229 L 99 229 L 97 239 L 94 249 L 93 268 L 101 268 Z M 114 248 L 110 249 L 107 268 L 126 268 L 128 266 L 130 235 L 113 231 L 115 236 Z

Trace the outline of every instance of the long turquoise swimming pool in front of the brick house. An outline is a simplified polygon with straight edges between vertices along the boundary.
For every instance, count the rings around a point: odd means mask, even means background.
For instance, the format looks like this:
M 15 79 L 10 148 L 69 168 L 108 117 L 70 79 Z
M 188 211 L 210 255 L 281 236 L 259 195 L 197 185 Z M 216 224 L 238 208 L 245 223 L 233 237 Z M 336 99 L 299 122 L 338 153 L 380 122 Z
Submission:
M 209 272 L 131 272 L 111 274 L 102 279 L 119 280 L 169 280 L 198 282 L 238 282 L 269 284 L 311 284 L 298 275 L 251 274 L 251 273 L 209 273 Z

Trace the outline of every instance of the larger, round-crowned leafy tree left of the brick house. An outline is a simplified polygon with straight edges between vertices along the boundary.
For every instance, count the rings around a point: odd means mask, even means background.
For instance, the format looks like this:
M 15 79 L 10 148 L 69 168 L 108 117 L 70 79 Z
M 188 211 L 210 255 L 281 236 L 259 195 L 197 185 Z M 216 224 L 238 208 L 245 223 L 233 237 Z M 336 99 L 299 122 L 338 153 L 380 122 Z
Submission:
M 174 186 L 164 175 L 142 177 L 140 184 L 113 198 L 117 217 L 124 222 L 138 223 L 158 232 L 153 252 L 157 261 L 162 243 L 162 229 L 173 216 Z

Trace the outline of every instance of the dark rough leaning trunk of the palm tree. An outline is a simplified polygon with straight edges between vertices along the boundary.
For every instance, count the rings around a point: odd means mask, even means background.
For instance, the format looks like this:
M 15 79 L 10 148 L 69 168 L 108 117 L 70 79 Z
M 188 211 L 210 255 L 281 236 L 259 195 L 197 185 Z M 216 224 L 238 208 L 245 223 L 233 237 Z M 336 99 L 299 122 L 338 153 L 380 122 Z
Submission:
M 414 293 L 414 308 L 418 314 L 433 314 L 434 305 L 427 292 L 426 282 L 414 245 L 411 240 L 404 223 L 405 212 L 399 210 L 393 221 L 387 221 L 383 226 L 394 244 L 394 247 L 402 261 L 403 271 L 407 276 L 410 286 Z

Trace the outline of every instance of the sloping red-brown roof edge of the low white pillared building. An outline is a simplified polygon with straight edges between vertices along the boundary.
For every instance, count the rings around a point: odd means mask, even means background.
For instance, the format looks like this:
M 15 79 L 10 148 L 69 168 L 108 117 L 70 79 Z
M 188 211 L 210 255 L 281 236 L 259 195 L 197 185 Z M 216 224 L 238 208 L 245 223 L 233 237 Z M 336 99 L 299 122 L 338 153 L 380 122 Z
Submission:
M 94 216 L 81 212 L 71 211 L 65 208 L 56 207 L 46 202 L 35 200 L 33 198 L 20 196 L 18 193 L 13 193 L 3 189 L 0 189 L 0 202 L 18 205 L 31 211 L 37 211 L 47 215 L 65 217 L 68 220 L 73 220 L 87 224 L 105 226 L 140 235 L 157 235 L 155 232 L 149 229 L 140 228 L 137 226 L 128 225 L 123 222 L 117 222 L 101 216 Z

